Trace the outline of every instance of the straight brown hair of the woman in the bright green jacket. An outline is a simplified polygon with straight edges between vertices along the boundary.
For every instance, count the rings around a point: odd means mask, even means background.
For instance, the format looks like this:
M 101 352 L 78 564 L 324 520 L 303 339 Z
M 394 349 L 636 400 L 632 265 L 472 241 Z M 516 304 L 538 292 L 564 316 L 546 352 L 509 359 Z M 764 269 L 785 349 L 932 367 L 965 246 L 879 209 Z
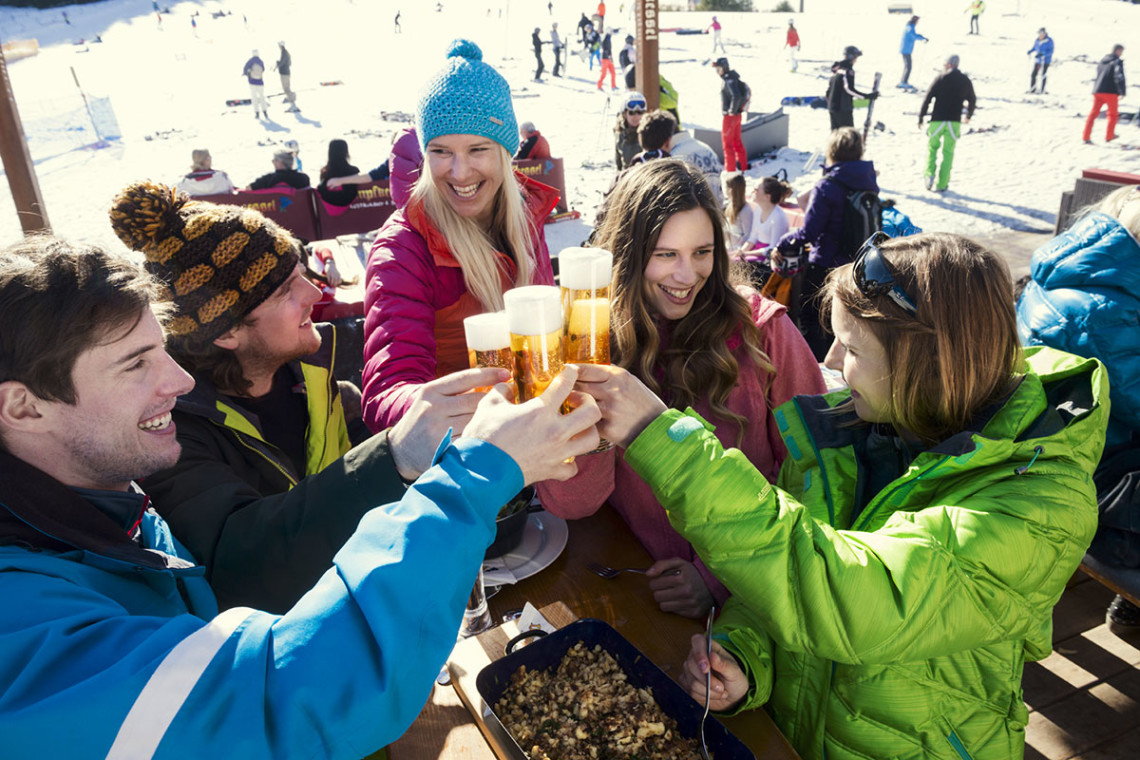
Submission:
M 887 352 L 891 423 L 930 446 L 968 430 L 1024 371 L 1009 269 L 946 232 L 888 240 L 879 251 L 918 314 L 887 295 L 863 295 L 845 264 L 823 285 L 821 321 L 830 324 L 833 299 L 863 321 Z

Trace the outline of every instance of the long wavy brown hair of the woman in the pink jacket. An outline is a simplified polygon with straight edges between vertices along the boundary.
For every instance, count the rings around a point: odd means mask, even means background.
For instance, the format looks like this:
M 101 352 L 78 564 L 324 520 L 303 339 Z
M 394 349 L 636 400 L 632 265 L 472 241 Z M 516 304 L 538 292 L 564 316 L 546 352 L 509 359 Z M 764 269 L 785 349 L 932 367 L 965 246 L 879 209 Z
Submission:
M 645 267 L 669 218 L 692 209 L 703 209 L 712 223 L 712 273 L 662 351 L 645 294 Z M 751 305 L 738 289 L 747 278 L 730 265 L 724 216 L 708 181 L 676 158 L 634 166 L 610 194 L 592 243 L 613 253 L 613 363 L 636 375 L 670 407 L 684 409 L 707 399 L 718 417 L 740 426 L 739 443 L 748 420 L 726 406 L 740 374 L 728 338 L 739 333 L 756 366 L 769 377 L 774 369 L 762 348 Z

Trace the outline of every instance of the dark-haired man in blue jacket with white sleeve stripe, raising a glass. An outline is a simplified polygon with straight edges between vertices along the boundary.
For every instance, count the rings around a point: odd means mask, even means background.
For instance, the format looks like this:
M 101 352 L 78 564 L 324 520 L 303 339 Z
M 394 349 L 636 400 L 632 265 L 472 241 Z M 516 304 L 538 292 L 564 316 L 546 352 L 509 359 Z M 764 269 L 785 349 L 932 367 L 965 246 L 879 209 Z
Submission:
M 0 251 L 0 736 L 21 758 L 352 758 L 412 724 L 455 644 L 500 505 L 597 444 L 577 373 L 487 394 L 284 615 L 218 614 L 133 481 L 173 464 L 192 379 L 157 285 L 39 238 Z M 494 370 L 489 370 L 494 371 Z

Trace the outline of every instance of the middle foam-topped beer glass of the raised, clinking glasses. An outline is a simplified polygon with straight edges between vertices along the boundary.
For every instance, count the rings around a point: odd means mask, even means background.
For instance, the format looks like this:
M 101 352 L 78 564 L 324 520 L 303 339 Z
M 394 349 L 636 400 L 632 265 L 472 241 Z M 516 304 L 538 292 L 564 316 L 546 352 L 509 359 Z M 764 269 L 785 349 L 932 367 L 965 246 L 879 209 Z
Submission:
M 528 285 L 507 291 L 503 301 L 522 403 L 542 395 L 562 371 L 562 294 L 551 285 Z

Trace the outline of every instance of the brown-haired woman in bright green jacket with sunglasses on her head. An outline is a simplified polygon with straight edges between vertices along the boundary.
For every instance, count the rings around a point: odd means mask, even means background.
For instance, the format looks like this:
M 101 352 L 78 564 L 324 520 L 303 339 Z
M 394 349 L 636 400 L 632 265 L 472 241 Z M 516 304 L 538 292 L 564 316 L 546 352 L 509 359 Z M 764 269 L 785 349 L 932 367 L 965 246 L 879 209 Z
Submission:
M 1023 353 L 1004 263 L 953 235 L 877 235 L 824 294 L 849 390 L 775 411 L 776 488 L 620 369 L 579 376 L 733 594 L 683 680 L 767 704 L 805 760 L 1020 758 L 1021 670 L 1097 525 L 1105 368 Z

